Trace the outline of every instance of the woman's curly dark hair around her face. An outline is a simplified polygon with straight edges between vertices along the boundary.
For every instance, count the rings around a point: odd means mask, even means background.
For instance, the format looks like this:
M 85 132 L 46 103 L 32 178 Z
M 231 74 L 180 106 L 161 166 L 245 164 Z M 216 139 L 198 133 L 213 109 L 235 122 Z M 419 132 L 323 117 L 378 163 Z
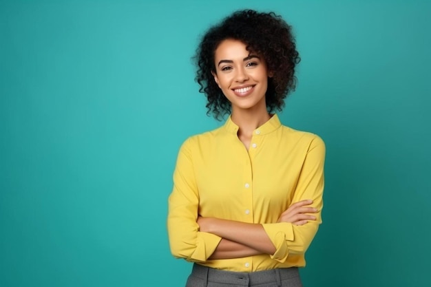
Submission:
M 195 80 L 200 85 L 199 92 L 208 100 L 207 115 L 212 112 L 220 120 L 231 112 L 231 103 L 211 74 L 215 73 L 215 50 L 226 39 L 241 41 L 247 51 L 263 56 L 268 71 L 273 73 L 268 78 L 266 107 L 269 112 L 281 111 L 284 98 L 295 89 L 295 65 L 301 60 L 291 25 L 274 12 L 238 10 L 207 30 L 193 56 L 198 67 Z

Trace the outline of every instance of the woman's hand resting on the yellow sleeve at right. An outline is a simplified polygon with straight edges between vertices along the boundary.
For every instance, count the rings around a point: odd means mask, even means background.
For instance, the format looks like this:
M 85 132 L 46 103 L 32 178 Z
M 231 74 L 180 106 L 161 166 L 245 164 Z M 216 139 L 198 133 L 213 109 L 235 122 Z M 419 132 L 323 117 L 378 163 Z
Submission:
M 291 222 L 295 225 L 304 225 L 308 220 L 316 220 L 314 215 L 307 213 L 317 213 L 318 210 L 314 207 L 308 206 L 313 203 L 313 200 L 301 200 L 295 202 L 286 209 L 277 222 Z

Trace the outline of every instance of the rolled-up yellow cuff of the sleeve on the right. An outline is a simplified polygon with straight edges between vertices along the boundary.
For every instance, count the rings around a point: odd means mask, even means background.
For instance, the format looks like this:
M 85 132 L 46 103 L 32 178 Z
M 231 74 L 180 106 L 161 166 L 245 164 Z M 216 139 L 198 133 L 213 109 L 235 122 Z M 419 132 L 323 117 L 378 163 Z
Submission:
M 262 224 L 262 226 L 275 246 L 275 253 L 270 255 L 271 259 L 281 263 L 285 262 L 289 254 L 286 241 L 293 241 L 295 239 L 292 224 L 289 222 L 280 222 L 266 223 Z

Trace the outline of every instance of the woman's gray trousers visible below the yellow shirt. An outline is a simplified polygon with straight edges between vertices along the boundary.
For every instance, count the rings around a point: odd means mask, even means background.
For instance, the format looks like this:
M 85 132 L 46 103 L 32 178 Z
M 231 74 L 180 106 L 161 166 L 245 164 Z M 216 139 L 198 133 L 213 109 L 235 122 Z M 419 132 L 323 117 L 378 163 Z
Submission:
M 186 287 L 302 287 L 298 268 L 231 272 L 193 264 Z

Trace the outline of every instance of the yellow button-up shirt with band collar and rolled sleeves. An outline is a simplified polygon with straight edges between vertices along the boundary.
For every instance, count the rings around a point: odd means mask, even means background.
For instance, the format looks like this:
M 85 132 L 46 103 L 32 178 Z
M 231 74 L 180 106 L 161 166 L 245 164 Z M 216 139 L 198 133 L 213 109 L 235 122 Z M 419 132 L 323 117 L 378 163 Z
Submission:
M 322 223 L 325 146 L 315 134 L 280 123 L 277 115 L 253 131 L 247 151 L 231 118 L 188 138 L 180 148 L 169 195 L 169 244 L 175 257 L 222 270 L 251 272 L 305 266 L 304 253 Z M 277 223 L 294 202 L 313 200 L 317 220 Z M 198 215 L 264 226 L 277 251 L 208 259 L 221 237 L 199 231 Z

